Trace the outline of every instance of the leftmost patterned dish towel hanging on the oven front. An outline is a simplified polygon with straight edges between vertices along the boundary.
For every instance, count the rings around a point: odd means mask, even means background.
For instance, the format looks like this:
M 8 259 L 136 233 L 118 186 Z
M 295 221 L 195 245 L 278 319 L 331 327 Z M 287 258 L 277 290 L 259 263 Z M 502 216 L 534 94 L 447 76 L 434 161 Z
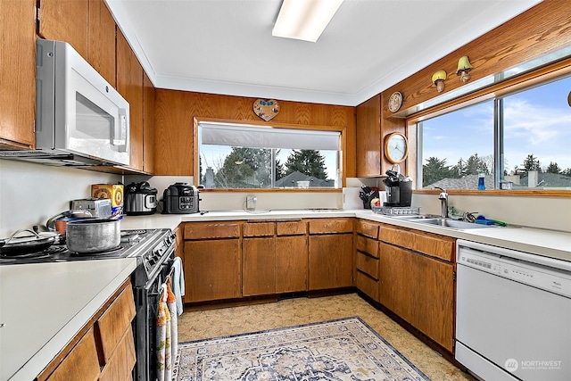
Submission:
M 167 285 L 162 284 L 159 290 L 159 316 L 157 318 L 157 379 L 159 381 L 170 381 L 171 365 L 170 356 L 170 312 L 167 306 L 168 291 Z

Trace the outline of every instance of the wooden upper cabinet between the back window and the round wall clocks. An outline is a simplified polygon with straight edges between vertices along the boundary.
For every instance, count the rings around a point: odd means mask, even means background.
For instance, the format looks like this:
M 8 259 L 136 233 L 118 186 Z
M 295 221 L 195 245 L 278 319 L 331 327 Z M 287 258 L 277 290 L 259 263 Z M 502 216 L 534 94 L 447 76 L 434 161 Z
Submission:
M 381 173 L 381 95 L 357 106 L 355 165 L 358 178 Z

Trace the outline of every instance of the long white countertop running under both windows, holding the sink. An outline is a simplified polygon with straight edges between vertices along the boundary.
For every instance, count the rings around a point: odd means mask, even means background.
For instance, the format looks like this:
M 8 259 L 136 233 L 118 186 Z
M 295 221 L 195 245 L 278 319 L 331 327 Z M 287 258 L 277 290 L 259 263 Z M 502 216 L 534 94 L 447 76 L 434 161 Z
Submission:
M 284 211 L 208 211 L 204 214 L 153 214 L 150 216 L 126 216 L 121 228 L 170 228 L 180 222 L 233 220 L 233 219 L 308 219 L 331 217 L 357 217 L 404 228 L 418 230 L 492 244 L 525 253 L 542 255 L 564 261 L 571 261 L 571 233 L 539 228 L 476 228 L 457 230 L 423 225 L 401 219 L 393 219 L 370 210 L 284 210 Z

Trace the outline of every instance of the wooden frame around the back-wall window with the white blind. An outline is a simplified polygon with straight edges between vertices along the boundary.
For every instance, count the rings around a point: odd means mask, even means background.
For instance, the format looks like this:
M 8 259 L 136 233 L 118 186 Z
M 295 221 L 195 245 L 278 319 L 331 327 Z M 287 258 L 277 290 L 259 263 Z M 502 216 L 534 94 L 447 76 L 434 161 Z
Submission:
M 194 149 L 193 149 L 193 168 L 194 168 L 194 186 L 199 185 L 200 181 L 200 161 L 199 146 L 200 142 L 198 140 L 198 125 L 202 122 L 208 123 L 229 123 L 229 124 L 240 124 L 240 125 L 250 125 L 250 126 L 260 126 L 260 127 L 273 127 L 273 128 L 289 128 L 289 129 L 312 129 L 312 130 L 323 130 L 323 131 L 335 131 L 341 134 L 341 145 L 339 152 L 339 176 L 341 178 L 340 187 L 313 187 L 313 188 L 214 188 L 214 189 L 203 189 L 201 191 L 208 192 L 343 192 L 343 186 L 346 184 L 346 163 L 347 163 L 347 127 L 346 126 L 322 126 L 322 125 L 312 125 L 312 124 L 294 124 L 294 123 L 278 123 L 278 122 L 263 122 L 259 120 L 227 120 L 220 118 L 209 118 L 209 117 L 194 117 L 193 118 L 193 139 L 194 139 Z

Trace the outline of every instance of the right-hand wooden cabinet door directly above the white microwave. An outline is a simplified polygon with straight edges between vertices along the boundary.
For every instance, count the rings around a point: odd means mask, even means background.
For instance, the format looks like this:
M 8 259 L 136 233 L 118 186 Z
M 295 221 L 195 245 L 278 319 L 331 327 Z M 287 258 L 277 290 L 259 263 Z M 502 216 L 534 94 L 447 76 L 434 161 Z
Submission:
M 115 33 L 115 21 L 107 5 L 103 0 L 89 0 L 87 61 L 112 87 L 117 87 Z

